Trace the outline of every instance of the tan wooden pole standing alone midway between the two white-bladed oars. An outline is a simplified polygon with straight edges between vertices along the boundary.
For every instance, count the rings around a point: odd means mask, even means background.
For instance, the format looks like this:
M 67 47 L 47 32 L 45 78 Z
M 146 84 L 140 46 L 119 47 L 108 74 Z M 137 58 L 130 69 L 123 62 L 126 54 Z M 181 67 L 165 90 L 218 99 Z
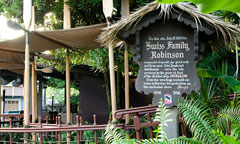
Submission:
M 64 14 L 63 14 L 63 28 L 71 28 L 71 15 L 70 8 L 66 4 L 68 0 L 64 0 Z M 70 103 L 71 93 L 70 93 L 70 66 L 69 66 L 69 50 L 66 49 L 66 115 L 67 115 L 67 124 L 71 124 L 71 103 Z M 67 143 L 71 142 L 71 135 L 67 133 Z

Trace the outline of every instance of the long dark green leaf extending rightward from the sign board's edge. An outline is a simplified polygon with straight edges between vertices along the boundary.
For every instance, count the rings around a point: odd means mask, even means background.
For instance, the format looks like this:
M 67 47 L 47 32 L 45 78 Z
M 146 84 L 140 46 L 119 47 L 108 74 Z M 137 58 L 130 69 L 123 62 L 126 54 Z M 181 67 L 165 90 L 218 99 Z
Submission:
M 240 81 L 234 79 L 231 76 L 219 73 L 214 70 L 202 69 L 202 68 L 198 68 L 197 73 L 199 77 L 222 79 L 232 88 L 233 91 L 240 92 Z

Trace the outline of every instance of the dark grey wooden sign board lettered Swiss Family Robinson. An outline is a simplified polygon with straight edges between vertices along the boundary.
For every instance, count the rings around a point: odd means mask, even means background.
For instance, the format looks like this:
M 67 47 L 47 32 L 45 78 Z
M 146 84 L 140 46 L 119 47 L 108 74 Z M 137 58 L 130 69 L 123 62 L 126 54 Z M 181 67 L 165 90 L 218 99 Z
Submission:
M 177 105 L 183 93 L 199 90 L 198 34 L 192 27 L 159 20 L 136 33 L 132 51 L 140 67 L 136 89 L 154 94 L 153 104 L 162 97 L 167 106 Z

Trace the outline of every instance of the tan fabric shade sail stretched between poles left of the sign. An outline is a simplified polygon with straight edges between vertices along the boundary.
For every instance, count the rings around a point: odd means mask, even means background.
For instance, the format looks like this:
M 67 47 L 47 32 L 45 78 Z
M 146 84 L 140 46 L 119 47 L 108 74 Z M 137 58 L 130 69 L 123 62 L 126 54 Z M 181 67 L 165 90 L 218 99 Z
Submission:
M 66 46 L 82 49 L 99 48 L 100 43 L 98 43 L 96 39 L 104 27 L 106 27 L 106 24 L 64 30 L 30 32 L 30 53 L 54 50 Z M 17 39 L 0 42 L 0 50 L 1 49 L 24 52 L 25 35 Z

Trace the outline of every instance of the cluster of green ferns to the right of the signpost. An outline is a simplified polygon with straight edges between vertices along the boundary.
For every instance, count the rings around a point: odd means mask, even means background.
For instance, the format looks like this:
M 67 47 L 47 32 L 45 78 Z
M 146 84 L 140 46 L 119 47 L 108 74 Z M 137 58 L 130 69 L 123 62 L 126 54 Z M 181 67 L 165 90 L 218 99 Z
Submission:
M 239 108 L 226 107 L 221 109 L 215 118 L 213 109 L 210 109 L 202 99 L 180 98 L 178 109 L 193 138 L 209 144 L 222 143 L 222 134 L 227 135 L 231 123 L 237 121 L 240 116 Z M 238 140 L 239 136 L 234 138 Z

